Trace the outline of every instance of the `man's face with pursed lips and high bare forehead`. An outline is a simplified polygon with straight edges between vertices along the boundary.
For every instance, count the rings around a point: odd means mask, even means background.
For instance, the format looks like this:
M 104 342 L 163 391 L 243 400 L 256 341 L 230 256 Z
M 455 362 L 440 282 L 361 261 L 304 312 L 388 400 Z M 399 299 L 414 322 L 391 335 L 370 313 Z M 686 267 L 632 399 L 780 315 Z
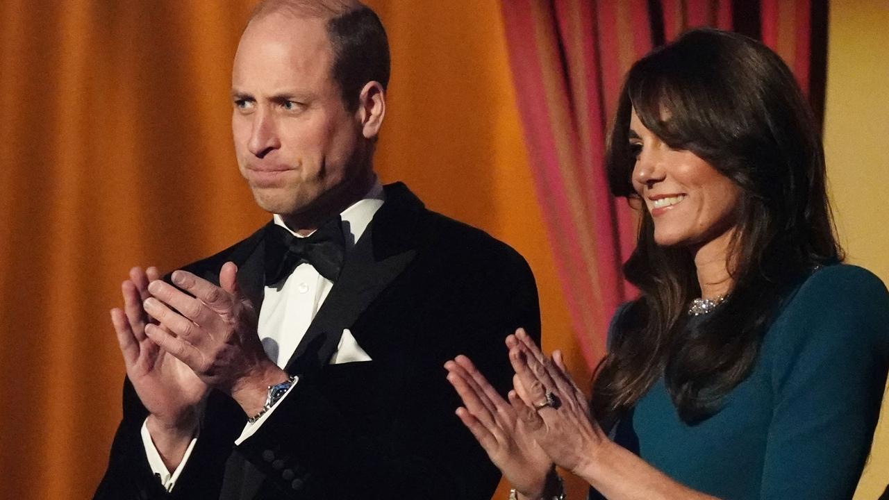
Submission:
M 272 13 L 244 30 L 232 71 L 237 163 L 256 203 L 274 214 L 337 207 L 367 175 L 360 119 L 332 79 L 321 19 Z M 342 207 L 344 208 L 344 207 Z

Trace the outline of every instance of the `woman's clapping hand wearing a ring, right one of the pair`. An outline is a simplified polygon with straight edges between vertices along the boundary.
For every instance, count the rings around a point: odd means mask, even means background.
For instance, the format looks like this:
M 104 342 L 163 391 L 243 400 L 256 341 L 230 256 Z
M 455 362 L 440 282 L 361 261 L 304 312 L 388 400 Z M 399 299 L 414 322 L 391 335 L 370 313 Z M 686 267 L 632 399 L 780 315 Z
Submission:
M 595 466 L 603 445 L 610 443 L 589 415 L 583 391 L 568 375 L 560 351 L 547 359 L 522 329 L 507 337 L 509 361 L 525 391 L 513 411 L 549 458 L 570 472 Z M 518 407 L 517 405 L 521 405 Z

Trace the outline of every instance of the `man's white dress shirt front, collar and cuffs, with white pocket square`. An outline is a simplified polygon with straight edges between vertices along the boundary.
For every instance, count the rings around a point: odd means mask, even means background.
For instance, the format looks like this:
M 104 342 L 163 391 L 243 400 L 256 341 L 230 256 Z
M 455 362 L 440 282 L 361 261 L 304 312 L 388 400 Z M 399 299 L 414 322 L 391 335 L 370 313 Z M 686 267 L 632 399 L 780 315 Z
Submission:
M 340 218 L 342 219 L 343 236 L 346 239 L 347 254 L 355 246 L 358 238 L 361 238 L 361 235 L 364 234 L 364 230 L 371 222 L 373 214 L 376 214 L 377 210 L 380 209 L 384 199 L 382 185 L 379 181 L 376 181 L 364 198 L 342 211 Z M 280 215 L 275 214 L 273 219 L 277 225 L 290 230 L 284 224 L 284 220 Z M 293 233 L 292 230 L 290 231 Z M 293 234 L 299 237 L 296 233 Z M 301 263 L 293 270 L 290 276 L 284 278 L 283 282 L 265 287 L 257 329 L 263 349 L 268 354 L 268 358 L 275 361 L 278 367 L 284 368 L 287 361 L 290 360 L 293 352 L 296 351 L 296 346 L 300 344 L 303 335 L 306 334 L 308 326 L 315 319 L 321 304 L 324 303 L 324 299 L 330 293 L 332 286 L 332 282 L 318 274 L 318 271 L 311 264 Z M 358 345 L 352 333 L 347 329 L 343 330 L 337 351 L 334 352 L 330 362 L 331 364 L 337 364 L 369 361 L 370 359 L 367 353 Z M 296 382 L 291 386 L 291 390 L 295 385 Z M 271 407 L 256 422 L 247 423 L 235 444 L 239 445 L 244 440 L 250 438 L 289 393 L 290 390 L 281 399 L 278 399 L 275 406 Z M 179 479 L 182 470 L 185 468 L 188 457 L 191 456 L 191 452 L 195 448 L 197 436 L 188 444 L 179 466 L 175 471 L 170 472 L 157 452 L 148 432 L 148 426 L 145 423 L 142 423 L 141 434 L 142 442 L 145 445 L 145 453 L 148 457 L 148 464 L 151 465 L 152 472 L 161 480 L 167 491 L 172 491 L 176 480 Z

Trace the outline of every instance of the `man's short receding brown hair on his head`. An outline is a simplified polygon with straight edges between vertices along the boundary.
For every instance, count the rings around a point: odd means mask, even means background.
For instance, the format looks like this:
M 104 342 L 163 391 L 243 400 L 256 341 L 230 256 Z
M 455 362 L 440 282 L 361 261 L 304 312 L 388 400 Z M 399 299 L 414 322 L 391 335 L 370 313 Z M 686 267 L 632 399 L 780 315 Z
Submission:
M 248 20 L 284 12 L 296 18 L 326 20 L 333 51 L 331 77 L 340 86 L 346 109 L 358 107 L 361 89 L 368 82 L 388 87 L 390 59 L 388 37 L 380 17 L 355 0 L 265 0 Z

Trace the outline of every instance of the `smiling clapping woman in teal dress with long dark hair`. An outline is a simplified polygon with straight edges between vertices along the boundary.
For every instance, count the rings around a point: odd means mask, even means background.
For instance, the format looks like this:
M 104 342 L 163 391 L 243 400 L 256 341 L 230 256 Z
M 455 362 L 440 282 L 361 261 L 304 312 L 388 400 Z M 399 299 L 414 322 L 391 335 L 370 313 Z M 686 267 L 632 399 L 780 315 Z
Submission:
M 850 498 L 885 387 L 889 294 L 844 265 L 821 141 L 789 69 L 745 36 L 698 29 L 637 61 L 606 158 L 639 206 L 592 399 L 523 332 L 509 402 L 469 359 L 448 380 L 522 499 L 553 465 L 624 498 Z

